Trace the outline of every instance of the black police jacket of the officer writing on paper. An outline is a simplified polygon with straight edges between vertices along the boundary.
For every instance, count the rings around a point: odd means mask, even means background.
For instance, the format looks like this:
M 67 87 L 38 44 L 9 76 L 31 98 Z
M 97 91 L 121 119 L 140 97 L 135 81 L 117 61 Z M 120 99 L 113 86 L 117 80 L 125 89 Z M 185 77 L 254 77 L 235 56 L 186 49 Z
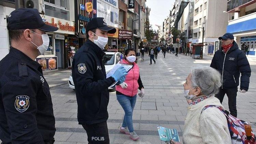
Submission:
M 75 53 L 72 62 L 72 78 L 75 84 L 79 124 L 96 124 L 108 120 L 108 87 L 115 83 L 106 78 L 102 58 L 105 53 L 89 39 Z

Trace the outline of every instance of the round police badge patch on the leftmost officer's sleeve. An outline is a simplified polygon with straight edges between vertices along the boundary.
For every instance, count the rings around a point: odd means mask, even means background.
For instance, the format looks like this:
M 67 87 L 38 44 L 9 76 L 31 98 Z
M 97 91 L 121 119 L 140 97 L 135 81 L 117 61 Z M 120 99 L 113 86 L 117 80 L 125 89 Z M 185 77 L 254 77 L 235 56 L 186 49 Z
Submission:
M 15 108 L 19 112 L 24 112 L 29 107 L 29 97 L 27 95 L 18 95 L 16 96 Z

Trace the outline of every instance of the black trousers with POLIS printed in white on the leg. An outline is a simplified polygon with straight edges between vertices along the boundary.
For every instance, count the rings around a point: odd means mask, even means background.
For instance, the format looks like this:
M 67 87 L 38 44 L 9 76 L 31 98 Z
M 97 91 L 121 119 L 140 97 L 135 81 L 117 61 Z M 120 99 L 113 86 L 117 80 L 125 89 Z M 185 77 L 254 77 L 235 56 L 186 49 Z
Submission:
M 82 126 L 86 130 L 89 144 L 109 144 L 109 131 L 106 122 Z

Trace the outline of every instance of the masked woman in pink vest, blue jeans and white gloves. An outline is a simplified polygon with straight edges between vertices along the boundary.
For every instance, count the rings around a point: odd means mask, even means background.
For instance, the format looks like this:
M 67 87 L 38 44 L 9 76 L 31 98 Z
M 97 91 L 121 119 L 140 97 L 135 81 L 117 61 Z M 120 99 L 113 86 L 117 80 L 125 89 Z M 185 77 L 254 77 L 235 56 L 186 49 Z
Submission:
M 139 96 L 142 98 L 145 94 L 144 87 L 140 78 L 140 69 L 134 62 L 136 60 L 136 51 L 127 49 L 125 59 L 122 60 L 124 65 L 132 65 L 128 71 L 125 82 L 116 86 L 116 98 L 125 111 L 123 125 L 120 131 L 129 134 L 132 140 L 138 140 L 139 136 L 135 133 L 132 124 L 132 112 L 136 103 L 138 89 L 141 90 Z

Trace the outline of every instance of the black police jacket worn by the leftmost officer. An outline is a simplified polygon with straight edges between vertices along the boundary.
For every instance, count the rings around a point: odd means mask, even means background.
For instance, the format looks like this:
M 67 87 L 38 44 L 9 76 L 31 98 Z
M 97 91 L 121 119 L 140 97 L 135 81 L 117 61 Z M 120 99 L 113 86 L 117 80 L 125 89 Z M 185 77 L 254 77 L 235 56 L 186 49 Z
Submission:
M 52 98 L 41 66 L 11 48 L 0 61 L 0 139 L 3 144 L 44 144 L 55 131 Z

